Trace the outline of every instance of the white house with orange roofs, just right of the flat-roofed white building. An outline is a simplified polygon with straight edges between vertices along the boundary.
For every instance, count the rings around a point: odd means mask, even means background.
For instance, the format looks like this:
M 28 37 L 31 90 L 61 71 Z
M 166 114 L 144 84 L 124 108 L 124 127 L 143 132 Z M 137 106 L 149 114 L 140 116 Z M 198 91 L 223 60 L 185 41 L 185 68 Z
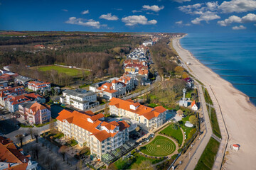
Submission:
M 110 100 L 113 97 L 124 95 L 126 93 L 126 84 L 124 84 L 122 81 L 117 81 L 114 79 L 110 83 L 107 82 L 98 87 L 97 93 L 99 93 L 103 98 Z

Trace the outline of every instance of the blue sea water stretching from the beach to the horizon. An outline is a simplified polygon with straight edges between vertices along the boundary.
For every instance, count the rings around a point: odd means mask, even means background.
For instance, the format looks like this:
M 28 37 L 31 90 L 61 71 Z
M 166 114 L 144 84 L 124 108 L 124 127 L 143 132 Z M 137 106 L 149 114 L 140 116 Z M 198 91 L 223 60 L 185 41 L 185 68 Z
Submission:
M 180 42 L 256 105 L 256 34 L 188 33 Z

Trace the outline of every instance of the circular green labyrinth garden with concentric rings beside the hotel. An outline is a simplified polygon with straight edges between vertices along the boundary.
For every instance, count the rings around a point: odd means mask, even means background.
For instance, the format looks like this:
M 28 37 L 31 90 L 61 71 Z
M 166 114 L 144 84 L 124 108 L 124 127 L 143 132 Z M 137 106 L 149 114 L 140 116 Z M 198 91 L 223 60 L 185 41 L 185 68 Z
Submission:
M 142 153 L 152 157 L 164 157 L 172 154 L 176 150 L 176 145 L 167 137 L 156 136 L 152 142 L 139 149 Z

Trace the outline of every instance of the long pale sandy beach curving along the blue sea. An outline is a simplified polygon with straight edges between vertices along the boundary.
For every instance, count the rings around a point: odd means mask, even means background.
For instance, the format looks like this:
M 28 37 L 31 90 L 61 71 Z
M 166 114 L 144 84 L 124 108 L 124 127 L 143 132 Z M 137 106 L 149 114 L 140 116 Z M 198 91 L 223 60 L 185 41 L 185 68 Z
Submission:
M 211 69 L 201 64 L 195 57 L 181 47 L 179 39 L 173 46 L 183 62 L 190 62 L 190 71 L 206 86 L 210 86 L 223 114 L 229 141 L 223 169 L 255 169 L 256 166 L 256 107 L 249 97 L 230 82 L 222 79 Z M 230 145 L 240 145 L 238 152 Z

